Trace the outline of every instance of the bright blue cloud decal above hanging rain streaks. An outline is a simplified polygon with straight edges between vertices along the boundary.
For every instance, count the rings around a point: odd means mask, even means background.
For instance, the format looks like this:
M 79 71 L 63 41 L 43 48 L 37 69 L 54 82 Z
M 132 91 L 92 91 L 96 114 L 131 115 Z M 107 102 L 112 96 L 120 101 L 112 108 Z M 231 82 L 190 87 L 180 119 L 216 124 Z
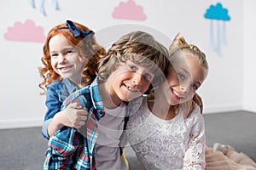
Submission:
M 211 5 L 210 8 L 207 8 L 205 18 L 210 20 L 230 20 L 228 9 L 223 8 L 221 3 L 217 3 L 216 6 Z

